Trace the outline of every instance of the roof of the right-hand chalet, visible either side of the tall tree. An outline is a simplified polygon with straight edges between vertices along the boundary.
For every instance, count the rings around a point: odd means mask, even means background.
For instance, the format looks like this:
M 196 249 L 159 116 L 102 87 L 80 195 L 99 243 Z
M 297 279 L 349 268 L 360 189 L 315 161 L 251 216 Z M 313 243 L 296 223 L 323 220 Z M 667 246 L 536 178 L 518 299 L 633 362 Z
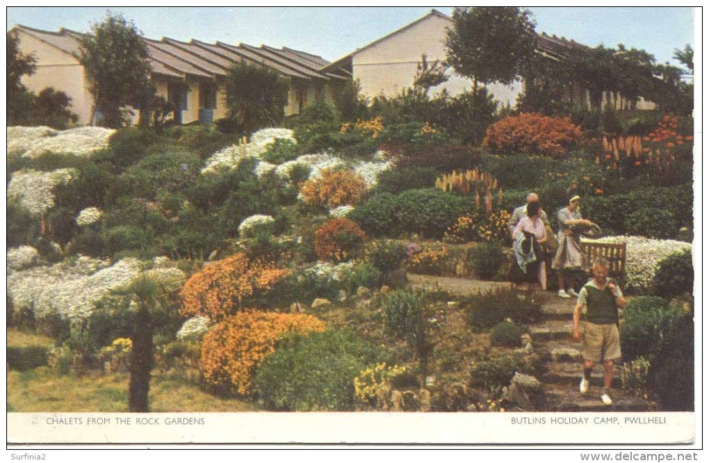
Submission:
M 384 35 L 384 37 L 378 38 L 378 39 L 374 40 L 374 42 L 364 45 L 364 47 L 357 48 L 357 50 L 354 50 L 353 52 L 351 52 L 351 53 L 349 53 L 349 54 L 347 54 L 347 55 L 345 55 L 345 56 L 327 64 L 327 65 L 324 65 L 323 68 L 320 70 L 323 72 L 340 72 L 343 74 L 350 74 L 351 75 L 352 56 L 353 55 L 356 55 L 357 53 L 362 52 L 362 50 L 367 50 L 367 48 L 371 48 L 374 45 L 391 38 L 393 35 L 397 35 L 399 33 L 402 33 L 403 31 L 408 30 L 408 29 L 412 28 L 413 26 L 416 26 L 418 23 L 426 21 L 426 20 L 428 20 L 428 18 L 431 18 L 433 16 L 436 16 L 439 18 L 444 18 L 447 21 L 450 21 L 452 23 L 452 18 L 450 16 L 433 9 L 427 15 L 422 16 L 421 18 L 418 18 L 416 21 L 413 21 L 413 23 L 409 23 L 406 26 L 403 26 L 402 28 L 398 28 L 397 30 L 394 30 L 392 33 Z M 557 37 L 556 35 L 547 35 L 546 33 L 541 33 L 541 34 L 537 35 L 536 52 L 538 54 L 548 57 L 552 60 L 557 60 L 557 61 L 564 60 L 571 53 L 573 53 L 574 50 L 579 50 L 581 48 L 588 49 L 588 46 L 583 45 L 578 42 L 575 42 L 574 40 L 568 40 L 563 37 Z

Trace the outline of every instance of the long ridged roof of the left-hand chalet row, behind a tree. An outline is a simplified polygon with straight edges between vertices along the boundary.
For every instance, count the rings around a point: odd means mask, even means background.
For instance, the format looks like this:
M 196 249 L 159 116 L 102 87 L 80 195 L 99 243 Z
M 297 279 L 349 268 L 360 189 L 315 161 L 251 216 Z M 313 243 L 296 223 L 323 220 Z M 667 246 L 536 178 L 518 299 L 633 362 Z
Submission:
M 50 32 L 17 25 L 13 30 L 21 30 L 33 38 L 51 45 L 69 55 L 79 55 L 79 39 L 82 33 L 62 28 Z M 150 68 L 153 74 L 168 77 L 187 76 L 215 78 L 225 76 L 235 62 L 262 65 L 279 72 L 285 77 L 303 80 L 328 81 L 342 79 L 340 75 L 322 72 L 320 69 L 329 62 L 318 55 L 294 50 L 261 45 L 252 47 L 241 43 L 229 45 L 216 42 L 204 43 L 199 40 L 182 42 L 164 37 L 162 40 L 143 38 L 147 45 Z

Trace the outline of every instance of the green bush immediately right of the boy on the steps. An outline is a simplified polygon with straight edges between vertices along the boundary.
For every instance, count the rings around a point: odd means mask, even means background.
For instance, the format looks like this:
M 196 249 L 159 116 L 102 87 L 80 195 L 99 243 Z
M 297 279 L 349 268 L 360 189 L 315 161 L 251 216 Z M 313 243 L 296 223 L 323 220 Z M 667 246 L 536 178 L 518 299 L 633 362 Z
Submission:
M 625 362 L 645 357 L 652 363 L 677 317 L 675 308 L 655 296 L 639 296 L 625 307 L 620 325 L 620 345 Z

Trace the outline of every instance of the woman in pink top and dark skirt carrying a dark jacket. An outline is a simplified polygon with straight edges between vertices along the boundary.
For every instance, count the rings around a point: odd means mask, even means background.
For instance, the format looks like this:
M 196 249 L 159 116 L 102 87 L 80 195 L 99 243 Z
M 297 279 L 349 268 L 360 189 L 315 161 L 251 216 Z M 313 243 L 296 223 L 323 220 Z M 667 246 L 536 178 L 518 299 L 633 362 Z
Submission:
M 527 217 L 523 217 L 512 232 L 515 240 L 515 262 L 510 269 L 514 283 L 538 284 L 547 289 L 547 265 L 544 251 L 547 230 L 542 221 L 542 206 L 538 202 L 527 204 Z

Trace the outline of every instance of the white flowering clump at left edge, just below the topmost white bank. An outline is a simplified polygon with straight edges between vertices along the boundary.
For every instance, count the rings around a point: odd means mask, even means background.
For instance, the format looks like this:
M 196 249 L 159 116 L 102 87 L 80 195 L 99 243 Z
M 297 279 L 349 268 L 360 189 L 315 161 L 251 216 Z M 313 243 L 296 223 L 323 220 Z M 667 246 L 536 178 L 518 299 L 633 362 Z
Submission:
M 13 172 L 7 186 L 7 196 L 18 199 L 30 214 L 39 217 L 54 206 L 52 189 L 58 184 L 69 182 L 73 176 L 74 169 L 59 169 L 53 172 L 23 169 Z

